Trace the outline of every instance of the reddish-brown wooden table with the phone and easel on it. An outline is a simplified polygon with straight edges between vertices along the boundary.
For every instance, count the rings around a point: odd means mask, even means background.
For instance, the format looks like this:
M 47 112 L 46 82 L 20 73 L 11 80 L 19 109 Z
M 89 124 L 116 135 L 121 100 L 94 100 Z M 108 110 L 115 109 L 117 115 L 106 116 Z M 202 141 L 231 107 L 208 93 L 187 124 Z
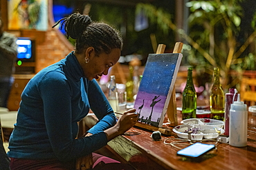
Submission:
M 176 156 L 179 149 L 164 144 L 167 138 L 176 141 L 176 134 L 162 136 L 160 141 L 152 140 L 151 134 L 152 131 L 133 127 L 126 135 L 118 136 L 108 145 L 136 169 L 256 169 L 256 116 L 252 114 L 248 115 L 247 147 L 218 143 L 217 150 L 211 151 L 201 160 Z

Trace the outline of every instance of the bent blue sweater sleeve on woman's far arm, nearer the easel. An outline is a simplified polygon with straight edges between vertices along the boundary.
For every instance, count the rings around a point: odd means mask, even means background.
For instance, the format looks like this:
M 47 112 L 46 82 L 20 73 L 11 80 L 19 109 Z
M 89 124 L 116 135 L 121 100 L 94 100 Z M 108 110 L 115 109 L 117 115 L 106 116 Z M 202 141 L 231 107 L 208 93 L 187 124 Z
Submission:
M 99 131 L 113 127 L 113 125 L 116 124 L 116 116 L 109 105 L 109 101 L 95 79 L 90 82 L 88 95 L 91 110 L 99 119 L 98 123 L 89 129 L 88 132 L 91 134 L 97 134 Z

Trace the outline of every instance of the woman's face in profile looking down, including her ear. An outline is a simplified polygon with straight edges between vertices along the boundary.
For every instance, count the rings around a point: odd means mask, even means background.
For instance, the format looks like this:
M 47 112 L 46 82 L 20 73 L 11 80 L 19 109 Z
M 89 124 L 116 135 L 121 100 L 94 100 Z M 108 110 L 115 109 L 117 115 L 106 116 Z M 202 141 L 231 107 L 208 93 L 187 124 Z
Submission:
M 84 64 L 84 76 L 91 81 L 93 78 L 98 79 L 103 74 L 108 74 L 109 68 L 115 65 L 120 58 L 120 49 L 116 48 L 109 54 L 102 53 L 99 56 L 95 55 L 93 49 L 87 54 L 87 57 L 90 61 Z

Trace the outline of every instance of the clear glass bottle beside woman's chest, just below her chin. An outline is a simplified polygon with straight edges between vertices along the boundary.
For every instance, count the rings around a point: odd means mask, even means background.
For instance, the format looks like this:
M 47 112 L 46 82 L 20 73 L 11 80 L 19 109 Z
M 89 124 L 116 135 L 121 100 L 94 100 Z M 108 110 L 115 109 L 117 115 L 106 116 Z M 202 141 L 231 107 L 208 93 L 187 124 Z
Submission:
M 110 76 L 110 84 L 109 84 L 109 104 L 111 105 L 114 112 L 118 109 L 118 96 L 117 96 L 117 88 L 116 88 L 116 77 L 114 75 Z

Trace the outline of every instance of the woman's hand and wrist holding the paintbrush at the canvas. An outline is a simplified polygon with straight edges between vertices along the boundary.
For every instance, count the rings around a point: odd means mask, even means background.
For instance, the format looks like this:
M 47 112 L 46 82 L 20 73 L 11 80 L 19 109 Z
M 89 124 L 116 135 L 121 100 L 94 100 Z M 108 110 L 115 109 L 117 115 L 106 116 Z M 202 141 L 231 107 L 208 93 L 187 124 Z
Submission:
M 107 134 L 108 140 L 124 134 L 125 131 L 129 130 L 136 124 L 136 121 L 138 120 L 138 114 L 135 111 L 136 109 L 129 109 L 125 111 L 125 113 L 122 114 L 122 116 L 118 119 L 116 125 L 107 130 L 104 130 L 105 134 Z

